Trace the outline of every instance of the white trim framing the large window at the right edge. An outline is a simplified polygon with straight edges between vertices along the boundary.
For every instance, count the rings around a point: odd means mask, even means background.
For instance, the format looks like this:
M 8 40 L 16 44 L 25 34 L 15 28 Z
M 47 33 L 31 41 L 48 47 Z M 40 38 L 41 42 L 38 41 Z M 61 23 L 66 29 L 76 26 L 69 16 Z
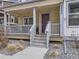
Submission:
M 79 13 L 69 13 L 69 4 L 70 3 L 78 3 L 79 1 L 78 0 L 75 0 L 75 1 L 68 1 L 67 2 L 67 27 L 79 27 L 79 25 L 69 25 L 69 15 L 74 15 L 74 14 L 79 14 Z

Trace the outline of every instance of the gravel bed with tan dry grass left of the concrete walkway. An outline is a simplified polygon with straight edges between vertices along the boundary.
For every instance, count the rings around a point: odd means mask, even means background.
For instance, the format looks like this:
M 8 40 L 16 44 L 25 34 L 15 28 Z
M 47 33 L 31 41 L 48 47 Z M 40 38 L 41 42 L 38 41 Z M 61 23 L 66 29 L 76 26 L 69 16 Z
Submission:
M 28 43 L 23 40 L 9 40 L 6 47 L 0 49 L 1 54 L 14 55 L 28 47 Z

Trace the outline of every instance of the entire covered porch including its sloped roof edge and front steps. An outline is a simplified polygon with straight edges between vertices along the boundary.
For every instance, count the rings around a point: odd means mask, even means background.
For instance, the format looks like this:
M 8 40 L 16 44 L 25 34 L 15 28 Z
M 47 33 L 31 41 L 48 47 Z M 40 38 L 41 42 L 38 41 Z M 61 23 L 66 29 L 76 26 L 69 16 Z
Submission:
M 62 0 L 44 0 L 4 8 L 5 34 L 20 38 L 29 36 L 30 46 L 48 48 L 51 37 L 60 37 L 61 2 Z

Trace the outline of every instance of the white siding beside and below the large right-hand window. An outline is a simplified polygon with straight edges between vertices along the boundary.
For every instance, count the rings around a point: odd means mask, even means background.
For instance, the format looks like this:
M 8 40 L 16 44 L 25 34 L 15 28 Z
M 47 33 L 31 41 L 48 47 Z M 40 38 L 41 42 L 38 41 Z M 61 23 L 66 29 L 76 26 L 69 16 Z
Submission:
M 65 7 L 66 11 L 65 11 L 65 16 L 67 16 L 67 5 Z M 63 16 L 63 15 L 62 15 Z M 64 36 L 71 36 L 74 32 L 75 36 L 79 36 L 79 26 L 72 26 L 69 27 L 68 26 L 68 18 L 66 17 L 65 19 L 63 19 L 63 33 Z

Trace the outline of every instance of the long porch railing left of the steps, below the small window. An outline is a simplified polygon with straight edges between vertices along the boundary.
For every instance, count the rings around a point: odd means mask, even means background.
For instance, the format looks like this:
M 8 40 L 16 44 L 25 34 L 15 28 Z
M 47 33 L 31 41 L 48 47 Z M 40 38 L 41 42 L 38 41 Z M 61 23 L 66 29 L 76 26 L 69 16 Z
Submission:
M 7 34 L 29 34 L 31 25 L 7 25 Z

